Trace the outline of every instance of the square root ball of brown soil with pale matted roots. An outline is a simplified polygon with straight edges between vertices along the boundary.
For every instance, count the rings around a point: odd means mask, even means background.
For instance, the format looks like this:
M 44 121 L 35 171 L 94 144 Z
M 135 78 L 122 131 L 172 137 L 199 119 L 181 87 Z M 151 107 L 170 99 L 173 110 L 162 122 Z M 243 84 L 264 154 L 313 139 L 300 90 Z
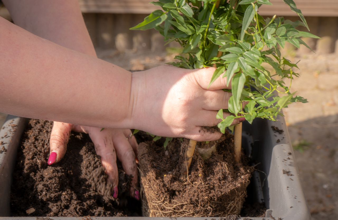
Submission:
M 181 142 L 174 139 L 166 149 L 161 141 L 140 143 L 143 215 L 238 215 L 246 197 L 252 168 L 245 165 L 244 157 L 243 163 L 235 162 L 233 142 L 233 135 L 229 133 L 216 142 L 198 142 L 197 148 L 210 148 L 216 144 L 216 152 L 205 161 L 195 153 L 188 179 L 183 174 L 183 155 L 189 140 Z

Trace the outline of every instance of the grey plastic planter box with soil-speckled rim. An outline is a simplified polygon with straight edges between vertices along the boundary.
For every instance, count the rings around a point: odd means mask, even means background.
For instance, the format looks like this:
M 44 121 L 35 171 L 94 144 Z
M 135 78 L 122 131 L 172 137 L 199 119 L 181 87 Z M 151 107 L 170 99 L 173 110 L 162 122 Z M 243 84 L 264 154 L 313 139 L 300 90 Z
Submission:
M 11 176 L 16 160 L 17 148 L 27 119 L 8 116 L 0 130 L 0 142 L 7 149 L 0 154 L 0 220 L 37 219 L 36 217 L 9 217 Z M 15 132 L 10 132 L 11 125 L 17 125 Z M 271 126 L 284 130 L 282 134 L 274 132 Z M 7 135 L 6 135 L 7 134 Z M 1 138 L 3 137 L 3 138 Z M 283 117 L 279 121 L 256 119 L 252 125 L 243 125 L 243 148 L 256 162 L 256 169 L 251 178 L 251 197 L 266 204 L 265 218 L 239 218 L 241 220 L 309 220 L 310 212 L 300 185 L 298 170 L 294 161 L 289 134 Z M 288 175 L 292 174 L 292 175 Z M 82 217 L 51 217 L 50 219 L 82 219 Z M 171 218 L 148 217 L 93 217 L 92 219 L 124 220 L 171 220 Z M 175 218 L 176 219 L 176 218 Z M 212 218 L 181 218 L 182 220 L 205 220 Z M 217 218 L 218 219 L 218 218 Z

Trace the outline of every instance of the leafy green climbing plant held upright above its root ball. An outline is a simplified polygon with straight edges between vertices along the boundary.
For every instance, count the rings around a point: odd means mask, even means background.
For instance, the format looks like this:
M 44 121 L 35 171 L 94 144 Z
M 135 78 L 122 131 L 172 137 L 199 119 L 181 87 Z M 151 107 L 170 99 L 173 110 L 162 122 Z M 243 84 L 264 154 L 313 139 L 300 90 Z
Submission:
M 308 28 L 301 11 L 292 0 L 284 0 L 301 21 L 291 22 L 284 18 L 264 19 L 257 13 L 269 0 L 159 0 L 151 2 L 163 10 L 155 10 L 132 30 L 155 28 L 167 43 L 178 42 L 182 55 L 171 63 L 181 68 L 216 66 L 210 81 L 227 77 L 232 86 L 229 108 L 220 109 L 217 118 L 221 132 L 231 127 L 235 118 L 245 117 L 252 123 L 257 118 L 276 120 L 281 110 L 293 102 L 307 102 L 290 92 L 290 85 L 283 79 L 299 75 L 293 72 L 296 64 L 283 57 L 278 49 L 289 42 L 297 48 L 306 43 L 301 37 L 317 36 L 298 31 L 297 26 Z M 308 47 L 308 46 L 307 46 Z M 267 63 L 274 72 L 261 64 Z M 278 77 L 278 79 L 277 79 Z M 281 97 L 275 93 L 282 94 Z M 243 107 L 243 102 L 247 105 Z M 223 111 L 233 115 L 223 118 Z

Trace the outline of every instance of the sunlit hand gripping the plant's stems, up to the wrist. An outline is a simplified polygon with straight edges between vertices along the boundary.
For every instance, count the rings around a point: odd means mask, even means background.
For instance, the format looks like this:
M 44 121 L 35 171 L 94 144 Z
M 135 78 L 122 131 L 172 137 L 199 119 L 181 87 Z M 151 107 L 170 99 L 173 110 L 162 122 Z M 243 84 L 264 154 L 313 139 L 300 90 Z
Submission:
M 202 127 L 216 126 L 219 109 L 228 108 L 230 89 L 219 77 L 209 88 L 215 68 L 188 70 L 163 65 L 132 73 L 131 118 L 134 128 L 164 137 L 211 141 L 221 133 Z M 229 113 L 223 113 L 224 118 Z M 244 119 L 244 118 L 243 118 Z M 242 120 L 243 120 L 242 119 Z M 241 119 L 235 119 L 236 125 Z

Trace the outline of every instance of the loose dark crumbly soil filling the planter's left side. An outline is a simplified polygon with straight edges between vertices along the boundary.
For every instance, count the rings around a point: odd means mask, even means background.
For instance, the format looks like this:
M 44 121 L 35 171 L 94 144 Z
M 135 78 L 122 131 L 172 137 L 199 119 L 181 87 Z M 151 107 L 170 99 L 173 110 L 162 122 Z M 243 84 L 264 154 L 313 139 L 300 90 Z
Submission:
M 26 127 L 11 189 L 13 216 L 140 216 L 140 204 L 125 196 L 130 177 L 122 166 L 119 200 L 112 198 L 111 184 L 105 181 L 88 135 L 72 132 L 65 157 L 48 166 L 51 129 L 52 122 L 35 119 Z M 30 208 L 35 212 L 27 215 Z

